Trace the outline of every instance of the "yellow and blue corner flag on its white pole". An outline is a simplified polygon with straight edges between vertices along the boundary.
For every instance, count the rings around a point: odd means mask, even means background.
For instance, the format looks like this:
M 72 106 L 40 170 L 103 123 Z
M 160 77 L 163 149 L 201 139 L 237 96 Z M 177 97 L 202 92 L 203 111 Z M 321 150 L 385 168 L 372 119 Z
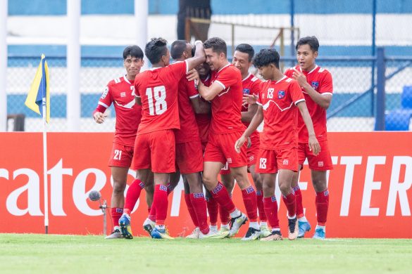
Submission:
M 30 110 L 36 112 L 39 115 L 46 115 L 46 122 L 50 121 L 50 93 L 49 93 L 49 67 L 47 66 L 46 57 L 42 54 L 42 60 L 35 79 L 30 86 L 30 91 L 27 94 L 25 105 Z M 46 107 L 46 114 L 43 113 L 43 106 Z

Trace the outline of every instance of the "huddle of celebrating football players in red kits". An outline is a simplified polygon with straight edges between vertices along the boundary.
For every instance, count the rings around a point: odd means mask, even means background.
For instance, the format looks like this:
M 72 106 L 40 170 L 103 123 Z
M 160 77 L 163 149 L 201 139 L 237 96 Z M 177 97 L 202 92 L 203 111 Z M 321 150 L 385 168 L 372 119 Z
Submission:
M 188 238 L 233 237 L 249 220 L 242 240 L 282 240 L 277 174 L 288 211 L 287 237 L 304 237 L 311 226 L 304 216 L 298 178 L 308 159 L 318 219 L 313 237 L 324 239 L 329 204 L 326 171 L 332 169 L 326 133 L 332 77 L 316 65 L 318 47 L 316 37 L 299 39 L 299 64 L 283 74 L 275 49 L 262 49 L 255 56 L 252 46 L 239 44 L 230 64 L 225 41 L 216 37 L 196 41 L 194 48 L 177 40 L 170 51 L 166 40 L 151 39 L 144 53 L 152 68 L 141 73 L 142 49 L 127 46 L 125 76 L 108 83 L 93 113 L 94 120 L 102 123 L 111 103 L 116 110 L 109 159 L 115 226 L 107 238 L 132 239 L 130 214 L 143 189 L 149 206 L 144 229 L 153 238 L 172 238 L 165 226 L 168 195 L 180 174 L 195 226 Z M 249 73 L 252 64 L 265 81 Z M 261 122 L 263 132 L 258 133 Z M 137 176 L 124 198 L 130 167 Z M 246 214 L 232 202 L 235 181 Z

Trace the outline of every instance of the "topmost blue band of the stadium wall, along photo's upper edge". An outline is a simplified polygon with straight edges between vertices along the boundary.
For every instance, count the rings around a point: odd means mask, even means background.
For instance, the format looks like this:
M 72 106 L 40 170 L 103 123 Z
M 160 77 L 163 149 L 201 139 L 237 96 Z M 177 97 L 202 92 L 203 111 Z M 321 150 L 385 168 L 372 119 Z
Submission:
M 83 0 L 82 14 L 132 14 L 134 0 Z M 247 3 L 247 5 L 242 5 Z M 308 5 L 308 3 L 311 5 Z M 333 2 L 333 5 L 330 5 Z M 211 0 L 214 14 L 287 14 L 289 0 Z M 294 0 L 294 12 L 306 14 L 371 13 L 373 0 Z M 411 0 L 377 0 L 377 13 L 412 13 Z M 24 7 L 24 8 L 22 8 Z M 176 14 L 178 0 L 149 0 L 150 14 Z M 8 0 L 8 15 L 64 15 L 66 0 Z

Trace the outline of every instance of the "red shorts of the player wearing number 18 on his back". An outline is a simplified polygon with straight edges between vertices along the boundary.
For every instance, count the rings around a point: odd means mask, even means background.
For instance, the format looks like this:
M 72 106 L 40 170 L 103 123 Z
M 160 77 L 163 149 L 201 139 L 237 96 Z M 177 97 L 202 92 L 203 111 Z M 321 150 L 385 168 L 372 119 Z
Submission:
M 136 136 L 133 169 L 155 173 L 175 172 L 175 133 L 171 129 Z

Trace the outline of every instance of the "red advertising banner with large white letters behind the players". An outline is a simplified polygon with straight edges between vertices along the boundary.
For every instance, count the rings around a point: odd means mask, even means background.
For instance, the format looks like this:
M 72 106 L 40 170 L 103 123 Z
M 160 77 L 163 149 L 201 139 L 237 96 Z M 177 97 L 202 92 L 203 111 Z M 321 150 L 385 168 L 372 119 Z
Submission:
M 327 237 L 412 238 L 412 132 L 328 136 L 335 168 L 328 174 Z M 87 193 L 99 190 L 110 206 L 113 181 L 107 162 L 113 133 L 48 133 L 47 137 L 49 233 L 101 234 L 102 211 L 98 202 L 87 199 Z M 0 233 L 44 233 L 42 133 L 0 133 L 0 140 Z M 130 171 L 128 183 L 134 175 Z M 306 217 L 316 226 L 315 192 L 306 165 L 299 185 Z M 275 194 L 277 201 L 282 201 L 278 188 Z M 144 195 L 132 214 L 135 235 L 145 235 Z M 233 197 L 237 207 L 244 210 L 239 188 L 235 187 Z M 279 210 L 286 235 L 282 202 Z M 107 223 L 109 233 L 110 218 Z M 193 229 L 182 183 L 169 196 L 166 224 L 176 237 L 188 235 Z M 239 235 L 244 233 L 246 228 Z

